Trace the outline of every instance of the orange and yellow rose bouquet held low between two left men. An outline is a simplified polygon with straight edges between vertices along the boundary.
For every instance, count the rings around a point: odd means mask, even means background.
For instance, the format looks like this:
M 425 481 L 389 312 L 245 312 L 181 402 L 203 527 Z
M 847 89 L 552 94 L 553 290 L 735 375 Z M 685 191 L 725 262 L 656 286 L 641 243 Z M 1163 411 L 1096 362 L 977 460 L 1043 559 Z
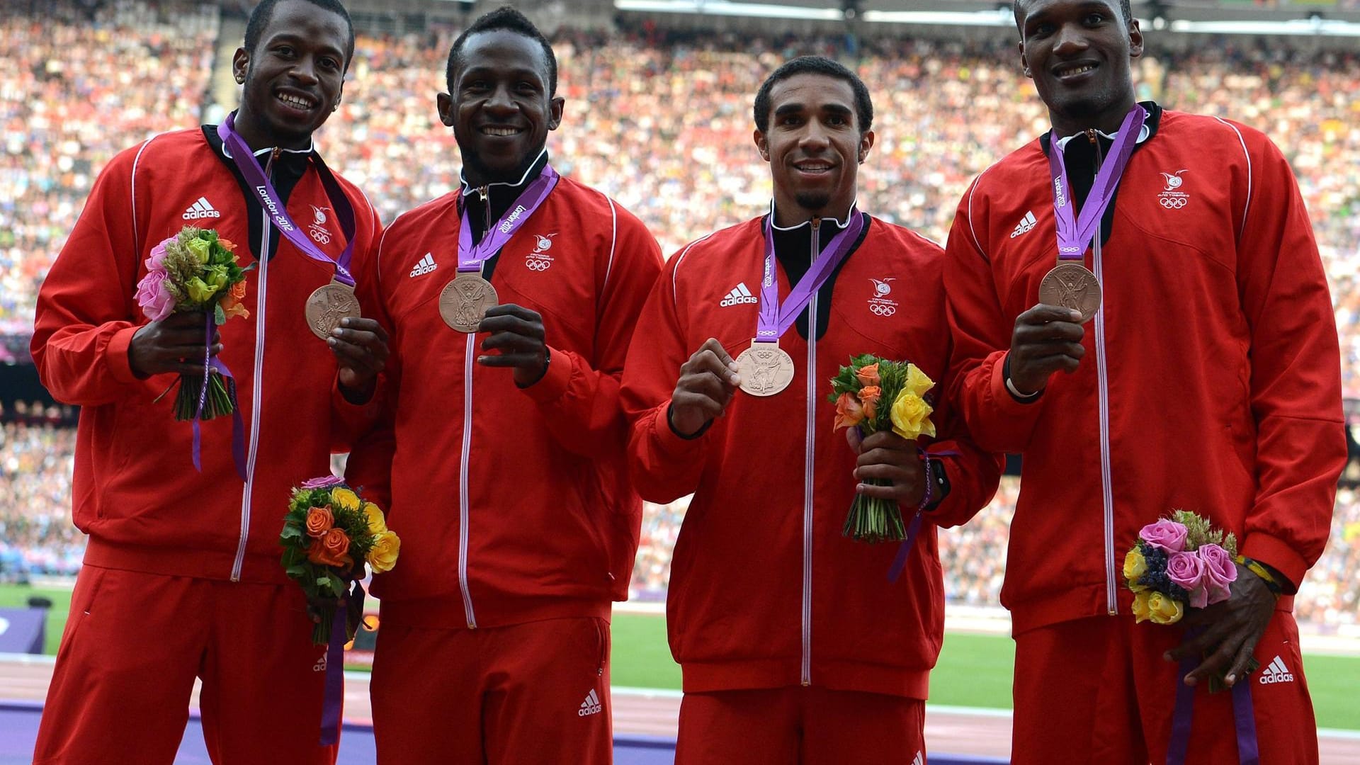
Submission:
M 363 564 L 373 573 L 389 572 L 401 551 L 401 539 L 388 530 L 378 505 L 330 475 L 292 490 L 279 543 L 288 577 L 321 604 L 321 622 L 311 630 L 317 645 L 330 641 L 337 602 L 350 593 L 351 581 L 362 579 Z M 347 622 L 347 640 L 356 629 L 356 619 Z

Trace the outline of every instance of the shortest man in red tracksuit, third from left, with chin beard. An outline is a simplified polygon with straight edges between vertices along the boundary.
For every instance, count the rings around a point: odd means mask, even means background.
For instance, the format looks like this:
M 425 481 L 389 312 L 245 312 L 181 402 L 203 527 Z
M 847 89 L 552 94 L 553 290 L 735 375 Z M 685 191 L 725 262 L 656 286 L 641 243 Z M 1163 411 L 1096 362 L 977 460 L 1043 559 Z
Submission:
M 830 380 L 851 355 L 910 361 L 933 380 L 949 357 L 940 246 L 854 207 L 872 120 L 845 67 L 804 57 L 777 69 L 755 101 L 771 214 L 680 250 L 638 320 L 624 372 L 631 472 L 650 501 L 694 493 L 666 603 L 684 672 L 680 764 L 923 757 L 944 633 L 934 530 L 981 509 L 1000 464 L 942 400 L 926 452 L 889 432 L 857 457 L 832 430 Z M 819 270 L 819 257 L 843 260 Z M 782 306 L 792 325 L 771 335 L 792 380 L 758 397 L 737 391 L 733 358 L 756 336 L 766 274 L 786 304 L 794 283 L 808 299 Z M 842 536 L 857 491 L 896 500 L 908 521 L 923 506 L 895 581 L 899 544 Z

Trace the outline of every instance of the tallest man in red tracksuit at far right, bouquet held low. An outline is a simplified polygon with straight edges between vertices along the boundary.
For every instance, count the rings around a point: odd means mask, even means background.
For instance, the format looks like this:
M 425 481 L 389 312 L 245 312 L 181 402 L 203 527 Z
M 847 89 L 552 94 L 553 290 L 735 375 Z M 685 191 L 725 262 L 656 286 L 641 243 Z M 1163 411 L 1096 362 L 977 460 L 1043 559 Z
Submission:
M 1234 694 L 1206 691 L 1223 672 L 1250 683 L 1262 762 L 1316 762 L 1291 595 L 1326 543 L 1346 448 L 1331 301 L 1293 174 L 1238 123 L 1138 113 L 1126 3 L 1021 0 L 1016 22 L 1054 132 L 974 181 L 945 263 L 952 392 L 979 444 L 1024 456 L 1001 589 L 1013 761 L 1167 761 L 1187 659 L 1187 761 L 1238 761 Z M 1134 148 L 1098 215 L 1092 177 L 1121 125 Z M 1055 151 L 1070 195 L 1054 191 Z M 1095 235 L 1070 249 L 1103 291 L 1084 325 L 1038 297 L 1068 196 L 1092 206 Z M 1229 600 L 1136 626 L 1122 561 L 1174 509 L 1234 532 L 1244 559 Z

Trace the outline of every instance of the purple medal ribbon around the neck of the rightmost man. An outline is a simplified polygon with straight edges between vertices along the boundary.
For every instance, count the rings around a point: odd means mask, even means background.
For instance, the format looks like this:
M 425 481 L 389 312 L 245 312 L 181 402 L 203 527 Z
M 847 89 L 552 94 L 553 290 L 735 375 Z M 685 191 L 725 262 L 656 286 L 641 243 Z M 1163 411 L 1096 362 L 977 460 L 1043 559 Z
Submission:
M 1049 170 L 1053 174 L 1053 215 L 1058 225 L 1058 260 L 1083 260 L 1091 237 L 1095 235 L 1104 211 L 1114 199 L 1115 186 L 1123 174 L 1125 165 L 1137 144 L 1138 131 L 1148 112 L 1138 103 L 1123 118 L 1119 132 L 1115 135 L 1114 146 L 1110 147 L 1110 158 L 1100 166 L 1096 180 L 1091 184 L 1087 203 L 1081 206 L 1081 215 L 1072 214 L 1072 184 L 1068 182 L 1068 166 L 1062 158 L 1062 148 L 1058 147 L 1058 133 L 1050 133 L 1049 143 Z

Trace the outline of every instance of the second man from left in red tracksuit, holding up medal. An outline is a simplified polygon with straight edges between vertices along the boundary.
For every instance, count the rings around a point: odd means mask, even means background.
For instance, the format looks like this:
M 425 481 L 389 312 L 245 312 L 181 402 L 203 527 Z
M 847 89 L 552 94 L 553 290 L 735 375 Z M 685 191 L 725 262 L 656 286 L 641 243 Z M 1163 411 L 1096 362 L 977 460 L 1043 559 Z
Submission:
M 360 276 L 393 363 L 348 475 L 390 495 L 403 538 L 374 581 L 378 761 L 609 762 L 609 604 L 642 519 L 619 376 L 661 253 L 548 165 L 563 99 L 528 19 L 476 20 L 447 79 L 462 188 L 403 214 Z M 487 282 L 479 323 L 458 290 Z

